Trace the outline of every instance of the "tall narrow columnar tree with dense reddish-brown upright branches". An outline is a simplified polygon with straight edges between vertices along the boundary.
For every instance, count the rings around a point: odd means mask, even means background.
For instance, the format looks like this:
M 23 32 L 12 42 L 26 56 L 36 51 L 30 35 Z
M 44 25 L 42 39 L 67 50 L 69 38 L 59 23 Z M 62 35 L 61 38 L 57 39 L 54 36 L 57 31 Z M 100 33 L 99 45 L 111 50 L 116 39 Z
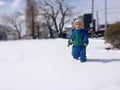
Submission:
M 26 0 L 26 34 L 29 37 L 32 37 L 33 39 L 36 38 L 36 19 L 38 15 L 37 5 L 35 0 Z

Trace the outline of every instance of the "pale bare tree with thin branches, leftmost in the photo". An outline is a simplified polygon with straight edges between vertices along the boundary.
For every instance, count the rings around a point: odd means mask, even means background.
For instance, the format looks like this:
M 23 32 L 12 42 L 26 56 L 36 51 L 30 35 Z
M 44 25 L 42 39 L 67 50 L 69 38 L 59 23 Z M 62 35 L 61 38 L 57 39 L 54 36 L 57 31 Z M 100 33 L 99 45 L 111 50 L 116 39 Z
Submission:
M 23 20 L 20 20 L 19 17 L 21 16 L 20 12 L 14 12 L 12 14 L 4 14 L 2 16 L 2 21 L 6 25 L 14 28 L 17 33 L 18 33 L 18 38 L 21 39 L 21 34 L 22 34 L 22 23 L 24 22 Z

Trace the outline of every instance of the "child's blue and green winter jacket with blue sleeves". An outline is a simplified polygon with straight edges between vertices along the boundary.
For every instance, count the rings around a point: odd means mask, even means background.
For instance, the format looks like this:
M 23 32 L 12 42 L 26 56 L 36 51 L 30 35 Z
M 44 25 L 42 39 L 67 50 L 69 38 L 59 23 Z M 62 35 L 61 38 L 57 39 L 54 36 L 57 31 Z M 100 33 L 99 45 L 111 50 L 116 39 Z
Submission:
M 73 43 L 70 43 L 70 40 L 72 40 Z M 89 43 L 87 32 L 84 29 L 80 29 L 80 30 L 74 29 L 72 31 L 72 34 L 68 38 L 68 45 L 73 44 L 73 46 L 83 46 L 84 43 L 86 44 Z

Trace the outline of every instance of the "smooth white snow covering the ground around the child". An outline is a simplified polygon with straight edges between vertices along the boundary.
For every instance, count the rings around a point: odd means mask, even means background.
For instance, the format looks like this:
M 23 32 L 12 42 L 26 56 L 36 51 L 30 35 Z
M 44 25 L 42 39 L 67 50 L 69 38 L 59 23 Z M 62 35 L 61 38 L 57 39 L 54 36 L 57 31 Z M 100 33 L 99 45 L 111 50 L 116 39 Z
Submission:
M 0 42 L 0 90 L 120 90 L 120 51 L 89 39 L 88 61 L 66 39 Z

